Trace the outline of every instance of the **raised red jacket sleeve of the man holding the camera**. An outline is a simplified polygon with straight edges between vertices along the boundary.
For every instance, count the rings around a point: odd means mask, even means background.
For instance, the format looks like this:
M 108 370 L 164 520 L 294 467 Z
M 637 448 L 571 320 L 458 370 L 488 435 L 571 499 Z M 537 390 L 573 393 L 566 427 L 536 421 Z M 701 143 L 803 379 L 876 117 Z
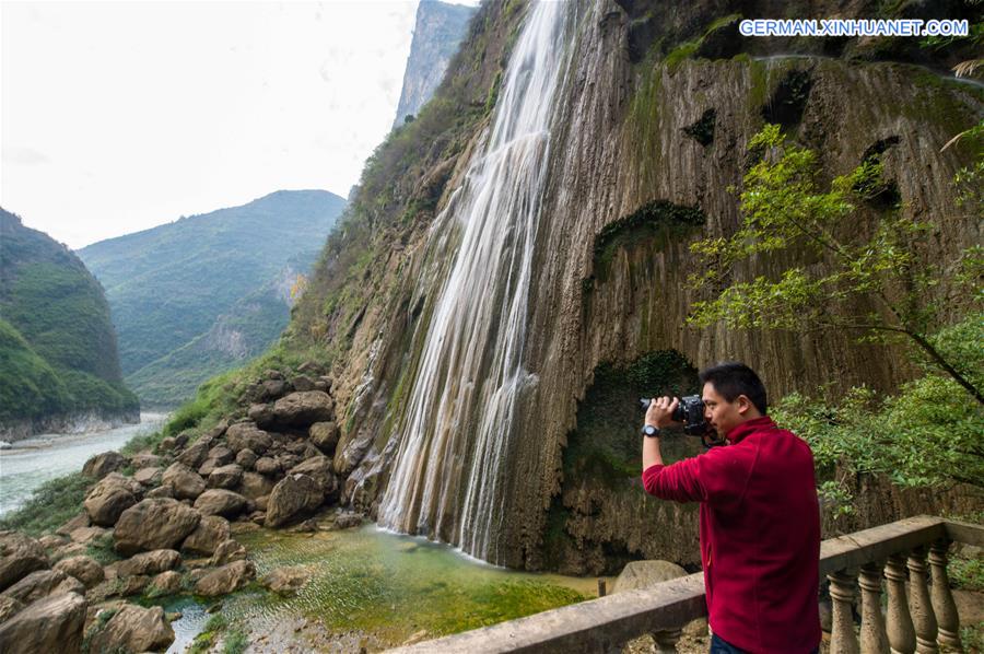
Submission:
M 754 447 L 714 447 L 669 466 L 649 466 L 643 470 L 643 486 L 651 495 L 672 502 L 707 502 L 716 506 L 738 502 L 757 455 Z

